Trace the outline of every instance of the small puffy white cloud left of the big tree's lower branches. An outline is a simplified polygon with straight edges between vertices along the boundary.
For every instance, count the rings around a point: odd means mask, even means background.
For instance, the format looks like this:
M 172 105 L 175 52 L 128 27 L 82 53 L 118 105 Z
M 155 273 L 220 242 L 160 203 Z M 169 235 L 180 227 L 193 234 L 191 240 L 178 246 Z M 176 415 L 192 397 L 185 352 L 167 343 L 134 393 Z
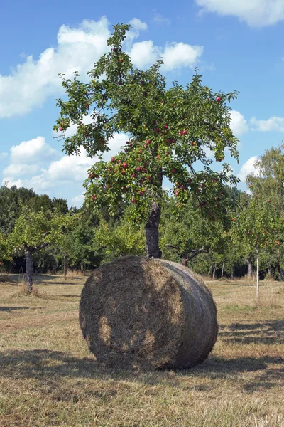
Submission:
M 11 147 L 12 164 L 33 164 L 57 159 L 58 157 L 60 157 L 60 153 L 46 144 L 44 137 L 36 137 Z

